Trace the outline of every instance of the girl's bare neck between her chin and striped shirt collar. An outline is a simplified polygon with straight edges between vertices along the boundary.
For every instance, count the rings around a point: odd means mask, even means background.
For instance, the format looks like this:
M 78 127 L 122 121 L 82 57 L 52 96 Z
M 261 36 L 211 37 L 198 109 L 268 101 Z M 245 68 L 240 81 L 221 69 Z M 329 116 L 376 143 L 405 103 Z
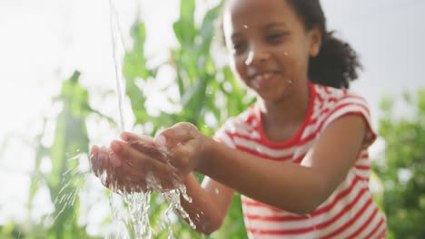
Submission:
M 295 87 L 299 90 L 292 92 L 292 95 L 282 100 L 258 100 L 262 111 L 262 121 L 267 128 L 301 126 L 307 114 L 310 100 L 309 85 L 302 83 L 304 86 Z

